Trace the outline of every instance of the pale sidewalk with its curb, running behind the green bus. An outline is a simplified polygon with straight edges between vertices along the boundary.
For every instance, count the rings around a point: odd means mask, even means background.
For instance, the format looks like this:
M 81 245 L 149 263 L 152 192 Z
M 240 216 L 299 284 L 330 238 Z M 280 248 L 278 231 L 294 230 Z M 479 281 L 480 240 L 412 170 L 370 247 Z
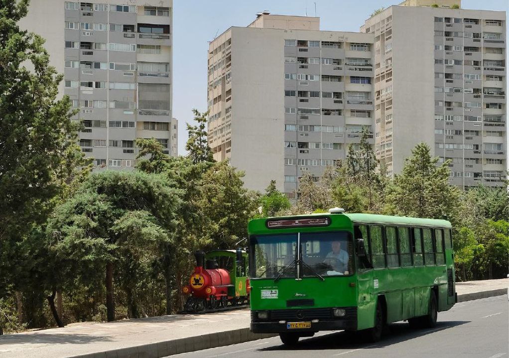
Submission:
M 508 279 L 458 282 L 458 302 L 507 293 Z M 159 358 L 274 335 L 249 332 L 248 309 L 172 315 L 0 336 L 2 358 Z

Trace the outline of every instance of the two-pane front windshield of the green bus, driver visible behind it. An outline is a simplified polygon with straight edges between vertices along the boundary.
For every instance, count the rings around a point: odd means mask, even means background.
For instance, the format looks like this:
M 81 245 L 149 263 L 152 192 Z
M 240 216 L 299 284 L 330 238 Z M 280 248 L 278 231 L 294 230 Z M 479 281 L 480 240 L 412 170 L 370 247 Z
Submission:
M 298 234 L 250 238 L 252 278 L 297 278 Z M 301 277 L 353 274 L 352 239 L 348 231 L 300 233 Z

